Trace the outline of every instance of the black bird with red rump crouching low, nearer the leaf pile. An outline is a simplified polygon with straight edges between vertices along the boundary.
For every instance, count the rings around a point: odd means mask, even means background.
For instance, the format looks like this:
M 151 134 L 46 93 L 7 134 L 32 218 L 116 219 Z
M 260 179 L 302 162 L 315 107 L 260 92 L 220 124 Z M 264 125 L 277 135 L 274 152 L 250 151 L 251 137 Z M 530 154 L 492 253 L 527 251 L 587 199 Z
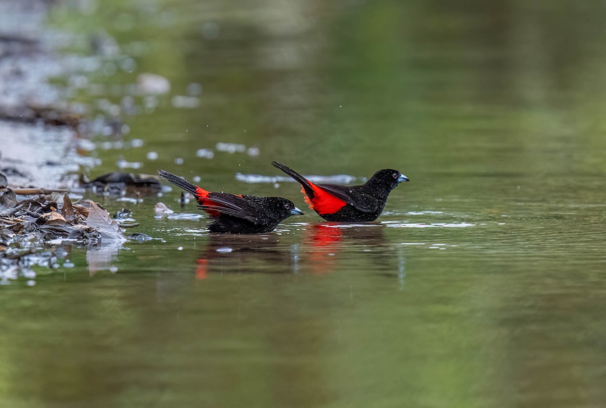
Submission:
M 292 201 L 282 197 L 256 197 L 208 192 L 174 174 L 158 170 L 158 174 L 193 194 L 198 207 L 215 218 L 210 232 L 256 234 L 273 231 L 291 215 L 302 215 Z

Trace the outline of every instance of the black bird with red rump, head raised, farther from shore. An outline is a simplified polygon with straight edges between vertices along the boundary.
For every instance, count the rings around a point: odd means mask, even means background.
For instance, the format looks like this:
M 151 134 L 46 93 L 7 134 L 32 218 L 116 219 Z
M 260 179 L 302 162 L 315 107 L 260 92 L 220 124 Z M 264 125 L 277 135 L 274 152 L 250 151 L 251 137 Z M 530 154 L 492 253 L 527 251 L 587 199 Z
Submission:
M 277 161 L 271 164 L 301 183 L 305 202 L 327 221 L 375 221 L 381 215 L 391 190 L 402 181 L 408 181 L 407 176 L 398 170 L 384 169 L 361 186 L 313 184 L 284 164 Z

